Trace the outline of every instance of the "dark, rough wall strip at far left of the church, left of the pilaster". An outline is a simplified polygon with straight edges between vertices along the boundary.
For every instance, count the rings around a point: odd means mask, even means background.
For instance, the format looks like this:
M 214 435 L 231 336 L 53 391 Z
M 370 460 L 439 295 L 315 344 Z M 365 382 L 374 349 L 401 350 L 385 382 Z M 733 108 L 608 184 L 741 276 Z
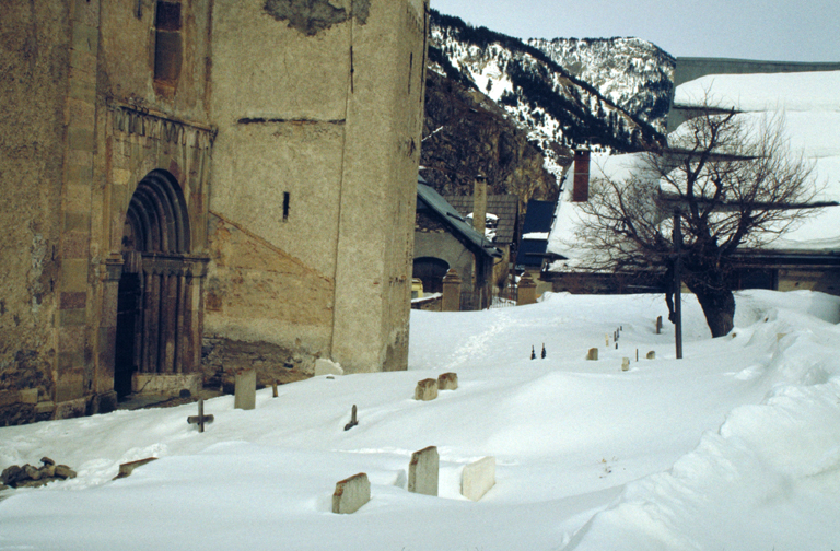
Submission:
M 42 419 L 37 401 L 49 401 L 54 391 L 55 251 L 61 228 L 69 31 L 66 2 L 3 2 L 0 424 Z

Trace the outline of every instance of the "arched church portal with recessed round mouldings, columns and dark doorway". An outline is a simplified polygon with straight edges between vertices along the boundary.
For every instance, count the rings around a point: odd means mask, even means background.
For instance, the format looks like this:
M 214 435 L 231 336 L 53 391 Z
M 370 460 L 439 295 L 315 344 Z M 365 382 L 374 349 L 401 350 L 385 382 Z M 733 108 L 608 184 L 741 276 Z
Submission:
M 137 186 L 122 231 L 114 390 L 196 390 L 200 285 L 206 259 L 190 255 L 190 220 L 180 186 L 152 171 Z

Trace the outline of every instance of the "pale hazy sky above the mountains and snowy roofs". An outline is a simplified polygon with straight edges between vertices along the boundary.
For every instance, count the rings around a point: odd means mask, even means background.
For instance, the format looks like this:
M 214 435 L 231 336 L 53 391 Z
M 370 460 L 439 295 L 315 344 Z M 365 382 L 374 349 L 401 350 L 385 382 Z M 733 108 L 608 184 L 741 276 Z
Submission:
M 840 61 L 840 0 L 431 0 L 518 38 L 637 36 L 673 56 Z

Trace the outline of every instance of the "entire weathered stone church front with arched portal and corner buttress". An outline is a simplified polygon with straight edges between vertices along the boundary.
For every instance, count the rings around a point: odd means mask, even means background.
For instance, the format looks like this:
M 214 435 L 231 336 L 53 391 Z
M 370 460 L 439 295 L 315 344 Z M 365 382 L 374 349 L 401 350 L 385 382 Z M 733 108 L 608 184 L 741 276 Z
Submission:
M 0 17 L 0 425 L 404 370 L 428 0 Z

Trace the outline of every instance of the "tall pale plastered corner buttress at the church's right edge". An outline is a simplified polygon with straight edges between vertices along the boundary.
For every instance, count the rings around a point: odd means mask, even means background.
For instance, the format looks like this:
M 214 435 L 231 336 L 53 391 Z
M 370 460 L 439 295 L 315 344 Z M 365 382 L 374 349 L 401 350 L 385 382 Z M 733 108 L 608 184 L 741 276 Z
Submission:
M 353 371 L 407 367 L 427 26 L 378 1 L 353 27 L 332 337 Z

